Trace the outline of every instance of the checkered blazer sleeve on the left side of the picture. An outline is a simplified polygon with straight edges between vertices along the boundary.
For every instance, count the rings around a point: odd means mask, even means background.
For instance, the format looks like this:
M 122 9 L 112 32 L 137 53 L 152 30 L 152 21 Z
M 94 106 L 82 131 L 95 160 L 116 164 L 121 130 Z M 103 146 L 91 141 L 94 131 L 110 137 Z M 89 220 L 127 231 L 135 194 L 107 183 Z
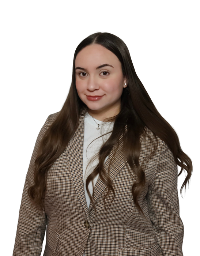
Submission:
M 44 240 L 46 230 L 46 215 L 44 209 L 39 210 L 37 207 L 31 204 L 31 200 L 28 195 L 28 189 L 34 183 L 34 163 L 37 157 L 39 143 L 46 131 L 46 124 L 49 117 L 47 118 L 45 124 L 38 134 L 29 169 L 26 175 L 22 201 L 19 210 L 19 220 L 13 256 L 41 255 L 42 242 Z

